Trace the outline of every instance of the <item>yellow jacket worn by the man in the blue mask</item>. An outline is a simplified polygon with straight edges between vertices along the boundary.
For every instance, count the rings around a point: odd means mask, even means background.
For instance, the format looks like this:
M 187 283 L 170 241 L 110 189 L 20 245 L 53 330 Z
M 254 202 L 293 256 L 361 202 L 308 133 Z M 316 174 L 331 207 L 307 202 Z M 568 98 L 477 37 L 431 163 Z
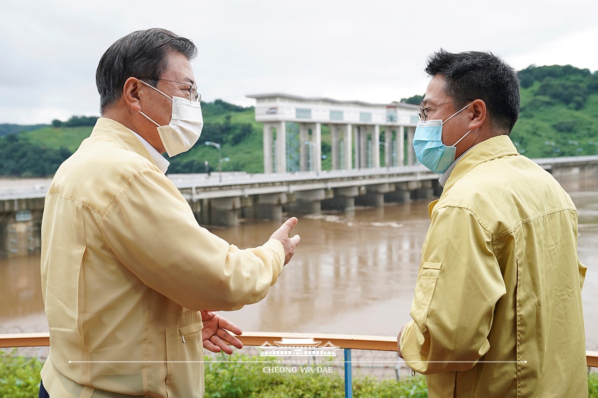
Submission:
M 457 162 L 401 335 L 431 398 L 587 397 L 577 212 L 506 135 Z

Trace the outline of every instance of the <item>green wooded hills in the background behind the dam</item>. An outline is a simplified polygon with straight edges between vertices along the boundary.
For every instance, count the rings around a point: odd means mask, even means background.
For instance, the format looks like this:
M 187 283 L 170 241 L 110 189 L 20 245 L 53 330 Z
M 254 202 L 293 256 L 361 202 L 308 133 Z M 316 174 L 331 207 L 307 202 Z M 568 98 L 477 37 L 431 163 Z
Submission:
M 530 66 L 519 75 L 521 115 L 511 134 L 518 150 L 530 158 L 598 154 L 598 73 L 554 65 Z M 405 101 L 421 98 L 414 95 Z M 205 161 L 211 170 L 217 169 L 218 151 L 206 141 L 221 143 L 222 158 L 231 159 L 222 163 L 223 171 L 263 172 L 263 126 L 255 122 L 253 107 L 216 100 L 202 103 L 202 110 L 199 143 L 170 159 L 169 172 L 204 172 Z M 66 122 L 55 120 L 52 126 L 0 125 L 0 135 L 11 134 L 0 137 L 0 175 L 52 174 L 89 137 L 94 120 L 73 116 Z M 330 130 L 323 125 L 323 169 L 331 168 L 330 143 Z

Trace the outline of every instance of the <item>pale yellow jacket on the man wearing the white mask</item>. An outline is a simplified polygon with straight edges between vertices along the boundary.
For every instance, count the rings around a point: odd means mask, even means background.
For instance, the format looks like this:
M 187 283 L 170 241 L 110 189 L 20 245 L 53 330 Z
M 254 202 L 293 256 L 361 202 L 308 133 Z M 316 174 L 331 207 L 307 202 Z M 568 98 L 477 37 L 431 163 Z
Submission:
M 264 298 L 282 243 L 203 229 L 137 137 L 100 118 L 56 172 L 42 219 L 51 397 L 202 397 L 199 310 Z M 121 395 L 128 394 L 128 395 Z

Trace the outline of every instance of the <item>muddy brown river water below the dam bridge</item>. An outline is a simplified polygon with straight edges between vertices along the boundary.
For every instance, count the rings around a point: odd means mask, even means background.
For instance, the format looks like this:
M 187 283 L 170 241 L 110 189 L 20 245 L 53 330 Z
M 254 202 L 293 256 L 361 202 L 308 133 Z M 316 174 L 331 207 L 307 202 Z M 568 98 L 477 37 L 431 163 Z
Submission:
M 588 350 L 598 350 L 598 181 L 563 178 L 579 211 L 579 257 Z M 224 313 L 244 331 L 388 335 L 410 320 L 428 202 L 300 217 L 301 245 L 260 303 Z M 279 226 L 248 221 L 212 232 L 239 247 L 263 243 Z M 0 261 L 0 333 L 47 331 L 39 256 Z

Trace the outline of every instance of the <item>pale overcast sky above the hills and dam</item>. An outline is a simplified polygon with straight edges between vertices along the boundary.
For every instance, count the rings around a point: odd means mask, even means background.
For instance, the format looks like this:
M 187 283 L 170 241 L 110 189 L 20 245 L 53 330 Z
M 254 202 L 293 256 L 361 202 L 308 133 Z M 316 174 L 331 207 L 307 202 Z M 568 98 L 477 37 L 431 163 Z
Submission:
M 285 92 L 375 103 L 423 94 L 426 57 L 489 50 L 515 69 L 598 69 L 598 2 L 30 1 L 0 14 L 0 123 L 99 115 L 97 62 L 133 30 L 193 40 L 202 98 Z

